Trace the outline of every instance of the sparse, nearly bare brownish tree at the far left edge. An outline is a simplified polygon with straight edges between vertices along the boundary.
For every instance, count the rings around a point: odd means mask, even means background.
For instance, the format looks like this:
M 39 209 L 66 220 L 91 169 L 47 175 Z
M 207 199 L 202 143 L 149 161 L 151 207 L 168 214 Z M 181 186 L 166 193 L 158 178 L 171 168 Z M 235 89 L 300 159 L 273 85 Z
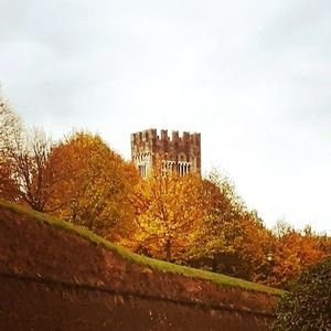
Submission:
M 41 129 L 26 129 L 0 99 L 0 194 L 38 211 L 52 194 L 54 174 L 47 167 L 52 141 Z

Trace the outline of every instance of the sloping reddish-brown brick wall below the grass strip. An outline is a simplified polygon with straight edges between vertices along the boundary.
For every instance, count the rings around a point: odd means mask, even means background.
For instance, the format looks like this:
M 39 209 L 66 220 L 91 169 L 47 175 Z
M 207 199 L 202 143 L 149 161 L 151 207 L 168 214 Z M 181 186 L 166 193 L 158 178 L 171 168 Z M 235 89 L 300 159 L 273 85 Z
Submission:
M 162 273 L 0 205 L 0 330 L 267 330 L 276 295 Z

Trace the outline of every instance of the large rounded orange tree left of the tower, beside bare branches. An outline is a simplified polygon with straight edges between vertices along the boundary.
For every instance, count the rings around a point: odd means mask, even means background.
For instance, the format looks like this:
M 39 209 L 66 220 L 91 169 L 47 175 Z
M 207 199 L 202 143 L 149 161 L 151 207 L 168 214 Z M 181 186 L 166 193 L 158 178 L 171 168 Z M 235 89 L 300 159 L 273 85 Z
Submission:
M 135 215 L 129 195 L 138 181 L 132 164 L 97 135 L 74 132 L 52 149 L 56 183 L 46 207 L 113 241 Z

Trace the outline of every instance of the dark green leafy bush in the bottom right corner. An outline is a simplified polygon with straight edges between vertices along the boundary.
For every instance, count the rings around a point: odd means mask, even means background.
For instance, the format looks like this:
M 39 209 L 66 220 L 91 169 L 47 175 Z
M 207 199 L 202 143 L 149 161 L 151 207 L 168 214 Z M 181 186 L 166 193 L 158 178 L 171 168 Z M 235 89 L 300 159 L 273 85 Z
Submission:
M 277 308 L 275 331 L 331 330 L 331 258 L 293 282 Z

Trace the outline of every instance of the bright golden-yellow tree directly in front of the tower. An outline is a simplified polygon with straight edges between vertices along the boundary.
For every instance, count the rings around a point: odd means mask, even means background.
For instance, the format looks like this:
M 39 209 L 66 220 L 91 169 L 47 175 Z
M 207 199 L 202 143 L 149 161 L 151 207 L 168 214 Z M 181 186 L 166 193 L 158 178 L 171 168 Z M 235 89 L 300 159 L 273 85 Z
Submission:
M 135 249 L 181 263 L 200 233 L 205 213 L 201 179 L 154 170 L 138 185 L 134 205 L 138 214 Z

